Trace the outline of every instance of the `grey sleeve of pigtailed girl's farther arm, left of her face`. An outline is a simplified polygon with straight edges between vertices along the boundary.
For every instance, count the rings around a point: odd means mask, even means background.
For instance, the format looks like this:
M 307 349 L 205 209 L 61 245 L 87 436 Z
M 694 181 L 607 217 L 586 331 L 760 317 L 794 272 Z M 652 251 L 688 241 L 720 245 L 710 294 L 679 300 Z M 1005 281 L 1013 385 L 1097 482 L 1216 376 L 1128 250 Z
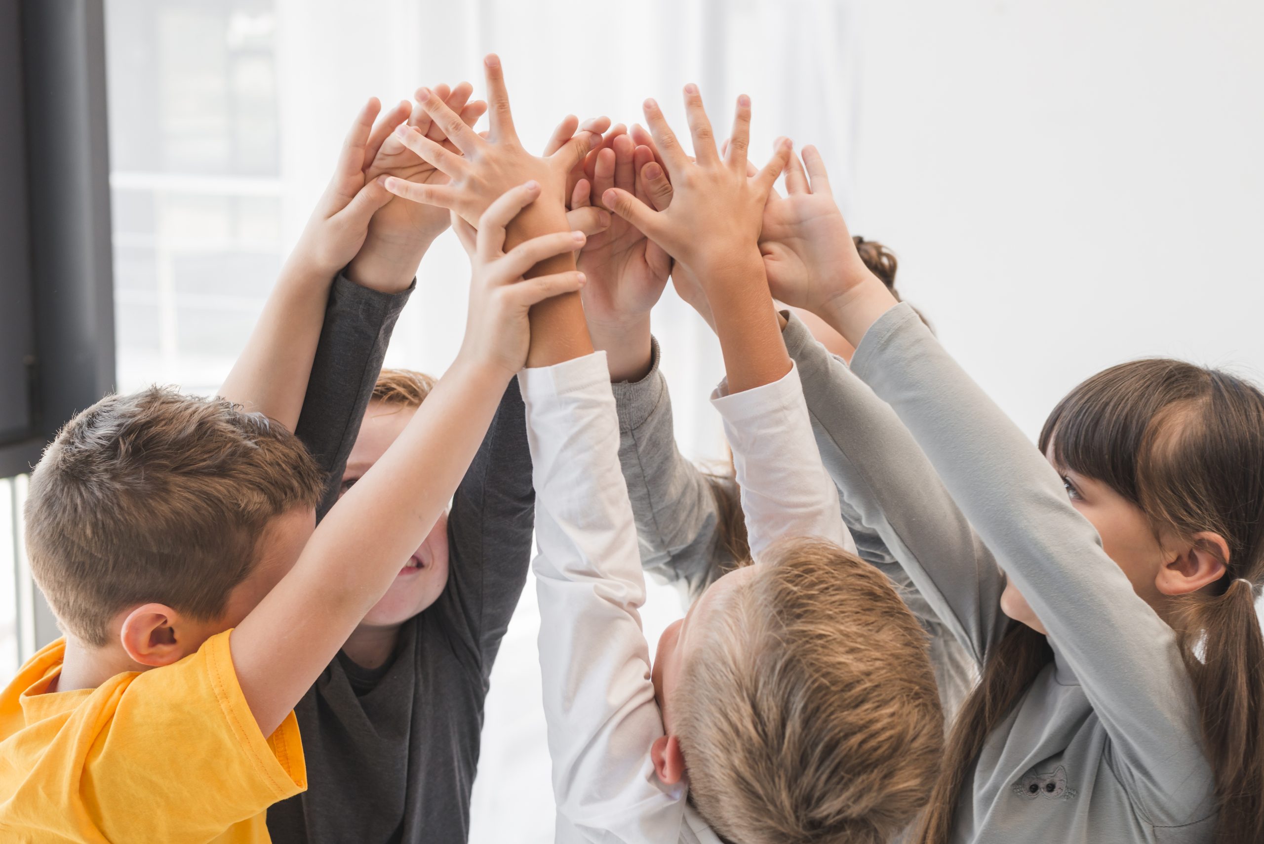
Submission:
M 794 316 L 784 336 L 822 459 L 860 534 L 881 538 L 920 598 L 981 665 L 1009 625 L 1000 610 L 1005 576 L 991 551 L 895 411 Z

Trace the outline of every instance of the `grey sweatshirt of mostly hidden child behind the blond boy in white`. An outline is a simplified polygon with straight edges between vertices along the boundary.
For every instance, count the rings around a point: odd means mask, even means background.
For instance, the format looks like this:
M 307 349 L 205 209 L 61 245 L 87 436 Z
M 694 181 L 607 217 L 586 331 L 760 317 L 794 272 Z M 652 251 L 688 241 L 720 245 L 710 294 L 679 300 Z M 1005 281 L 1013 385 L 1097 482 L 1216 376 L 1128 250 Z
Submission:
M 794 317 L 790 318 L 784 337 L 791 358 L 803 373 L 808 409 L 811 411 L 811 393 L 820 388 L 822 373 L 828 370 L 830 363 L 842 364 Z M 671 398 L 666 379 L 659 369 L 659 344 L 655 341 L 650 373 L 638 382 L 612 385 L 619 416 L 619 462 L 632 499 L 641 565 L 659 580 L 676 585 L 683 601 L 691 604 L 736 561 L 719 534 L 719 508 L 710 483 L 676 447 Z M 806 387 L 808 379 L 814 383 L 811 389 Z M 856 383 L 870 392 L 860 382 Z M 828 382 L 824 389 L 829 389 Z M 813 417 L 811 426 L 822 460 L 837 483 L 841 461 L 838 446 L 820 419 Z M 909 576 L 889 550 L 887 543 L 899 537 L 884 532 L 881 522 L 876 526 L 866 523 L 861 513 L 843 498 L 847 490 L 841 489 L 839 493 L 843 522 L 856 540 L 861 558 L 891 579 L 905 604 L 930 636 L 930 660 L 939 684 L 939 696 L 944 714 L 951 716 L 973 686 L 977 660 L 957 643 L 937 612 L 913 588 Z M 947 499 L 947 493 L 943 497 Z M 918 550 L 940 551 L 944 547 L 944 538 L 934 533 L 921 533 L 913 541 Z M 976 551 L 977 540 L 963 518 L 952 541 L 964 552 Z M 906 551 L 902 543 L 891 547 Z

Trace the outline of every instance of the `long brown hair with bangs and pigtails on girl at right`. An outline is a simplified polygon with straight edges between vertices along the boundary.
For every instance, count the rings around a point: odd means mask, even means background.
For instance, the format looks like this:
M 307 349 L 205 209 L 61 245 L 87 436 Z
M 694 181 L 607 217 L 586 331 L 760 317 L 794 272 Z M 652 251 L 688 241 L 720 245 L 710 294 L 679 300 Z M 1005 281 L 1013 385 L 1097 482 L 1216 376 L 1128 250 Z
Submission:
M 1227 543 L 1225 576 L 1169 606 L 1216 775 L 1217 839 L 1264 840 L 1264 638 L 1254 601 L 1264 581 L 1264 394 L 1178 360 L 1121 364 L 1058 403 L 1040 450 L 1139 507 L 1157 534 L 1212 532 Z M 949 738 L 924 843 L 949 840 L 987 734 L 1052 658 L 1045 637 L 1020 624 L 992 649 Z

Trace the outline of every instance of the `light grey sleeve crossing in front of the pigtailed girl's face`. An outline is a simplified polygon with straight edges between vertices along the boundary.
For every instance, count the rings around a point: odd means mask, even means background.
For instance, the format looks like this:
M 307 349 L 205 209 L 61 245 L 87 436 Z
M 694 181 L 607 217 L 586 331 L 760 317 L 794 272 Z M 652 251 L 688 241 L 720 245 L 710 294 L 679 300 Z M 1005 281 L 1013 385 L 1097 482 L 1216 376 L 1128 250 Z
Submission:
M 1048 630 L 1111 739 L 1115 776 L 1149 816 L 1188 816 L 1210 771 L 1176 633 L 1102 551 L 1058 473 L 908 306 L 870 327 L 853 368 L 908 425 Z

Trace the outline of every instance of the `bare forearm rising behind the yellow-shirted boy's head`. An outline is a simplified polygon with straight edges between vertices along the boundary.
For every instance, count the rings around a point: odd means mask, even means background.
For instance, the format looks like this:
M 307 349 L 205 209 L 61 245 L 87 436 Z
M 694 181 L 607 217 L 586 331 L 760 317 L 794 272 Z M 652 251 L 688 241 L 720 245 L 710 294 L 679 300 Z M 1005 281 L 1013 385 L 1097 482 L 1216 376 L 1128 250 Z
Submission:
M 245 349 L 220 388 L 221 397 L 295 430 L 332 277 L 295 260 L 286 263 Z

